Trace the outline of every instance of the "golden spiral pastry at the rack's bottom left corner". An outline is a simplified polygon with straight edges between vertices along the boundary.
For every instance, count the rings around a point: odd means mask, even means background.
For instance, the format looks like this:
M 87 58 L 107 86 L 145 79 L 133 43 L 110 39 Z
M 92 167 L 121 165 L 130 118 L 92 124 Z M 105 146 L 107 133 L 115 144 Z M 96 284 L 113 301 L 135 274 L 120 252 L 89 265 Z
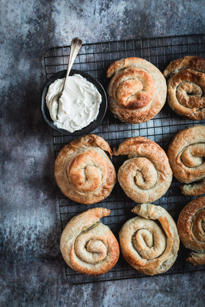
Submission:
M 73 217 L 61 234 L 60 250 L 67 265 L 79 273 L 102 275 L 118 261 L 118 241 L 100 223 L 111 210 L 94 208 Z

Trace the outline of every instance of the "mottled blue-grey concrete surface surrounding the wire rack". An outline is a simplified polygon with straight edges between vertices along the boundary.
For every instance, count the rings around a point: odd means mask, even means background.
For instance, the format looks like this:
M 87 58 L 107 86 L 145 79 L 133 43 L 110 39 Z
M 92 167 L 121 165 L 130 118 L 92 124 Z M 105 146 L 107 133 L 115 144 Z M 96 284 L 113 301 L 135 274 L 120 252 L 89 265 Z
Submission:
M 202 272 L 73 286 L 59 253 L 52 132 L 40 114 L 44 51 L 204 32 L 204 1 L 0 1 L 0 306 L 204 306 Z

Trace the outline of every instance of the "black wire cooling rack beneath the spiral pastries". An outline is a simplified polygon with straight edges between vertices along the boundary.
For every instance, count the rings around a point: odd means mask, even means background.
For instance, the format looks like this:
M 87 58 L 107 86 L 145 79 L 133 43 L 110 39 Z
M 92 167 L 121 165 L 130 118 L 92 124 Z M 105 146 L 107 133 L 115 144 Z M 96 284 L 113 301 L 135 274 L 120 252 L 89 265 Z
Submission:
M 187 55 L 201 56 L 204 58 L 204 42 L 205 36 L 197 34 L 85 44 L 82 45 L 79 51 L 73 69 L 79 69 L 90 73 L 90 75 L 98 79 L 106 90 L 109 82 L 106 78 L 106 71 L 109 64 L 115 60 L 136 56 L 152 62 L 152 64 L 163 71 L 170 61 L 177 58 L 182 58 Z M 46 51 L 44 62 L 47 79 L 49 79 L 53 73 L 67 68 L 69 54 L 69 46 L 55 47 Z M 147 123 L 122 123 L 118 119 L 115 119 L 113 114 L 108 111 L 101 125 L 94 130 L 93 133 L 105 138 L 112 149 L 113 147 L 118 147 L 126 138 L 132 136 L 145 136 L 154 140 L 167 151 L 170 141 L 178 131 L 198 123 L 205 123 L 205 121 L 194 122 L 189 119 L 182 119 L 182 117 L 172 112 L 169 106 L 167 106 L 167 103 L 165 103 L 163 110 Z M 70 136 L 64 136 L 53 130 L 55 155 L 57 156 L 60 149 L 72 139 L 73 138 Z M 118 171 L 125 159 L 126 158 L 122 156 L 113 157 L 112 161 L 116 171 Z M 178 188 L 179 185 L 180 183 L 176 179 L 173 179 L 172 185 L 167 193 L 161 197 L 161 199 L 153 203 L 165 208 L 175 221 L 178 220 L 178 215 L 182 208 L 191 201 L 191 197 L 182 196 Z M 66 226 L 66 223 L 76 214 L 89 208 L 99 206 L 111 209 L 110 216 L 103 218 L 102 223 L 108 225 L 117 238 L 122 225 L 128 219 L 135 216 L 131 212 L 131 209 L 135 206 L 134 201 L 126 197 L 118 183 L 115 185 L 109 197 L 98 204 L 89 206 L 77 204 L 65 197 L 61 191 L 59 191 L 59 214 L 62 230 Z M 204 266 L 200 265 L 193 267 L 191 263 L 187 262 L 186 258 L 188 254 L 189 250 L 185 249 L 181 244 L 175 264 L 169 271 L 163 273 L 163 275 L 204 270 Z M 120 256 L 117 265 L 115 265 L 111 271 L 97 277 L 77 273 L 66 266 L 66 278 L 69 282 L 74 284 L 140 277 L 148 277 L 148 275 L 143 275 L 133 269 L 127 264 L 122 256 Z

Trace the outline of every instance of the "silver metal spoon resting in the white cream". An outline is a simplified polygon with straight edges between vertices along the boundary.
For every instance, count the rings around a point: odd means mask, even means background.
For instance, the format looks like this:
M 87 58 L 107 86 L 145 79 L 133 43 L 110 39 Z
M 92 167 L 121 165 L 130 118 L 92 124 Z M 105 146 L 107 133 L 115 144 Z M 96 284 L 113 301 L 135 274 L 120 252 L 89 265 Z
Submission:
M 66 72 L 66 78 L 64 81 L 64 85 L 63 88 L 61 89 L 61 91 L 55 95 L 53 95 L 53 97 L 51 97 L 51 101 L 50 101 L 50 106 L 49 106 L 49 112 L 51 115 L 51 119 L 53 119 L 53 121 L 57 121 L 57 112 L 58 112 L 58 107 L 59 107 L 59 98 L 61 97 L 62 93 L 64 92 L 64 88 L 66 87 L 66 83 L 68 82 L 68 75 L 70 73 L 70 69 L 72 69 L 72 64 L 74 62 L 74 59 L 77 56 L 77 53 L 79 52 L 79 50 L 81 49 L 81 45 L 82 45 L 82 40 L 80 38 L 73 38 L 71 45 L 70 45 L 70 56 L 69 56 L 69 60 L 68 60 L 68 69 Z

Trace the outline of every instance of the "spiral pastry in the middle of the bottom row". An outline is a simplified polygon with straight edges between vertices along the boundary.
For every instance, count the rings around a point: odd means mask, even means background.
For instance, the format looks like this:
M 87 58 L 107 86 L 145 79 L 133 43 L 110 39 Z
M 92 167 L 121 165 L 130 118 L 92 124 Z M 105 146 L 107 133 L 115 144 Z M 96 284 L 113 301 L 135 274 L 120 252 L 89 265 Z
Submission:
M 132 212 L 139 216 L 126 221 L 119 234 L 124 258 L 141 273 L 164 273 L 179 249 L 174 220 L 164 208 L 152 204 L 137 205 Z

